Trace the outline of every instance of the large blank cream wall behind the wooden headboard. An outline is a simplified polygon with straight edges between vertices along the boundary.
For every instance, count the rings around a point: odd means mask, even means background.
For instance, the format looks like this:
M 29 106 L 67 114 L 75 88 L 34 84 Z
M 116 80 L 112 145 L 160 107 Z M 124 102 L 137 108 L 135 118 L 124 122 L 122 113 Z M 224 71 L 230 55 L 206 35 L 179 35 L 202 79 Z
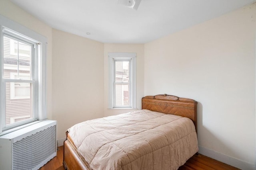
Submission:
M 255 167 L 256 4 L 145 44 L 145 95 L 198 101 L 204 151 Z M 221 158 L 220 158 L 221 159 Z

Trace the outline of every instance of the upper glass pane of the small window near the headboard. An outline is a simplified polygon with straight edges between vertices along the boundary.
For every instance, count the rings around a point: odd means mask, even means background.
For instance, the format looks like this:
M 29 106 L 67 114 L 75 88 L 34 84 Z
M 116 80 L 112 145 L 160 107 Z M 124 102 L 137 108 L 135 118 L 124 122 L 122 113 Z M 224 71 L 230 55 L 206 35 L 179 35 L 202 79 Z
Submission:
M 115 61 L 115 82 L 130 82 L 130 61 Z

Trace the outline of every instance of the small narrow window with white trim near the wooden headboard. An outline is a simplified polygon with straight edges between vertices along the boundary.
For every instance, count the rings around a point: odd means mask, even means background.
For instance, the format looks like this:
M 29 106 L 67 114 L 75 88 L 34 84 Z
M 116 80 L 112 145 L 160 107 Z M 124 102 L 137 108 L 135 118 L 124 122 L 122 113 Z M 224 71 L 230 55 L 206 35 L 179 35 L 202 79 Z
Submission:
M 108 53 L 109 108 L 136 108 L 136 53 Z

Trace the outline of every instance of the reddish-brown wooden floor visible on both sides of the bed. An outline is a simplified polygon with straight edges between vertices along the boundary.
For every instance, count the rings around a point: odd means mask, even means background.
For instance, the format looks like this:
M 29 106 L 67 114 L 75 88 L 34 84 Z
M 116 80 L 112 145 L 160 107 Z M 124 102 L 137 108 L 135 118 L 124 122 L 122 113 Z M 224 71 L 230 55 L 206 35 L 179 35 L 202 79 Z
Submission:
M 59 147 L 57 156 L 47 162 L 40 170 L 65 170 L 62 166 L 63 146 Z M 239 170 L 202 154 L 194 155 L 179 170 Z

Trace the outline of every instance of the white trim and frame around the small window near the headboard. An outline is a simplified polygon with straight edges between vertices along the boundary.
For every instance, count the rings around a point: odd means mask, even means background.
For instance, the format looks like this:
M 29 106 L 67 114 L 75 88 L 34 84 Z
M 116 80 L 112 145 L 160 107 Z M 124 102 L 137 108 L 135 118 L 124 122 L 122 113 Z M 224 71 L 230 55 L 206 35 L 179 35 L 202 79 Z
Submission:
M 131 89 L 130 93 L 132 94 L 131 98 L 131 107 L 121 106 L 114 107 L 114 60 L 115 59 L 128 59 L 130 61 L 130 80 L 131 80 Z M 108 69 L 109 69 L 109 94 L 108 94 L 108 109 L 116 108 L 131 108 L 136 109 L 136 53 L 108 53 Z

